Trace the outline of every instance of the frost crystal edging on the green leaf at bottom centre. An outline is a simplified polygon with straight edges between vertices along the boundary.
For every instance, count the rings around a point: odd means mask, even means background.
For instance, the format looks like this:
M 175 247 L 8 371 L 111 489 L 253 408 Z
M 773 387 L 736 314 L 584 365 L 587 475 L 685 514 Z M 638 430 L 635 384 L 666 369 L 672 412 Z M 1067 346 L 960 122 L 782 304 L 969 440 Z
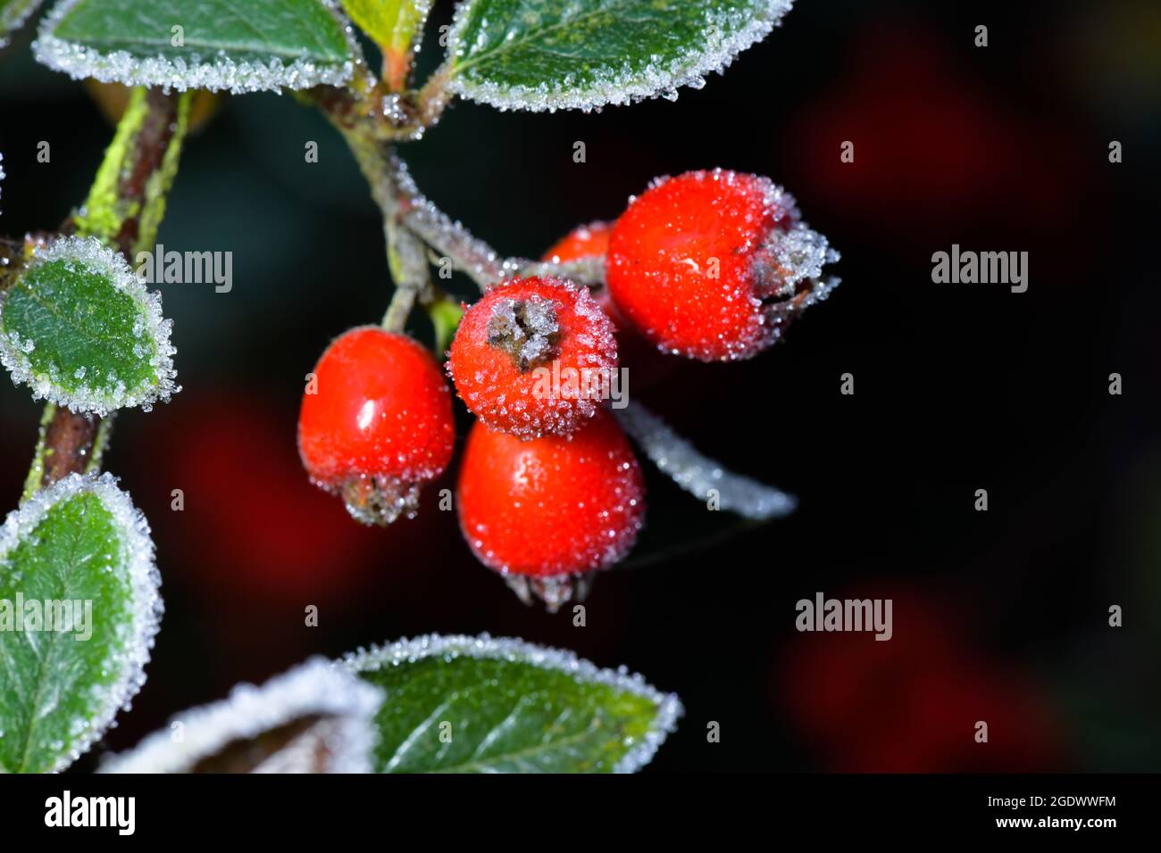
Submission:
M 493 638 L 488 634 L 481 634 L 478 637 L 427 634 L 413 639 L 401 639 L 389 645 L 360 649 L 344 657 L 339 665 L 354 673 L 375 672 L 389 666 L 413 664 L 417 660 L 432 657 L 448 660 L 456 657 L 470 657 L 525 663 L 541 670 L 563 672 L 583 684 L 606 685 L 649 700 L 657 706 L 657 715 L 641 743 L 635 744 L 614 765 L 614 773 L 635 773 L 648 764 L 665 742 L 666 736 L 677 729 L 678 717 L 684 713 L 677 694 L 662 693 L 641 675 L 630 674 L 623 666 L 616 670 L 601 670 L 570 651 L 548 649 L 522 639 Z

